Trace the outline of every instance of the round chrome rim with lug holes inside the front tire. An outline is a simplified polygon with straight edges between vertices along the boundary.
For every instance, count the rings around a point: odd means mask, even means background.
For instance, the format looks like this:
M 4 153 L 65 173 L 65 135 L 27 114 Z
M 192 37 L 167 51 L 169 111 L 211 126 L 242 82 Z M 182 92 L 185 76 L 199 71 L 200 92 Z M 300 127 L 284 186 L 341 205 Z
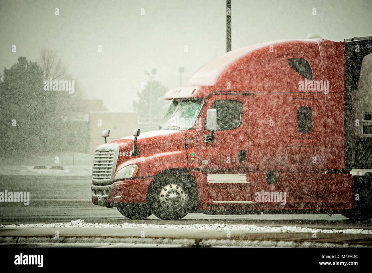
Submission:
M 183 188 L 177 184 L 164 186 L 159 194 L 161 206 L 167 211 L 177 211 L 183 207 L 186 200 L 186 194 Z

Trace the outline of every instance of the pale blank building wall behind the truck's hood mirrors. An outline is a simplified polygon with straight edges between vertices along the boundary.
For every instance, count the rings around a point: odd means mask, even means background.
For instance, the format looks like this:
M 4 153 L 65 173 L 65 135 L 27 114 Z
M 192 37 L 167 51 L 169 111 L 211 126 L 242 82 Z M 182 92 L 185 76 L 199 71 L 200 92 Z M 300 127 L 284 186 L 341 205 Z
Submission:
M 102 126 L 99 126 L 99 120 Z M 90 112 L 89 113 L 89 153 L 94 153 L 96 147 L 105 143 L 101 137 L 103 130 L 110 130 L 107 142 L 131 136 L 138 128 L 137 112 Z

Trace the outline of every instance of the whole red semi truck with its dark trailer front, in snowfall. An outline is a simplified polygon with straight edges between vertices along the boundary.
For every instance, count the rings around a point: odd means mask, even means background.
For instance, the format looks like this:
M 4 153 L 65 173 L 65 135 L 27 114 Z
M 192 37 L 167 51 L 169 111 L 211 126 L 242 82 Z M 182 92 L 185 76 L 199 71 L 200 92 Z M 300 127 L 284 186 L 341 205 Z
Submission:
M 159 130 L 97 147 L 92 202 L 132 219 L 369 219 L 371 88 L 372 36 L 225 53 L 165 94 L 172 103 Z

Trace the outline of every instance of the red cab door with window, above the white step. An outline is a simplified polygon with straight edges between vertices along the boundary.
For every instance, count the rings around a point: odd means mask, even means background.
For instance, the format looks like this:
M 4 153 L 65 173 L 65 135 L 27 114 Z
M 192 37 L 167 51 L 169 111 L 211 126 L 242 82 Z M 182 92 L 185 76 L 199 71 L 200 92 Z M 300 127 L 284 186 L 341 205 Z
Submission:
M 213 142 L 206 143 L 206 110 L 217 109 L 217 131 Z M 247 164 L 248 127 L 244 122 L 247 116 L 246 95 L 214 95 L 207 102 L 199 121 L 198 160 L 205 169 L 224 172 L 225 169 L 238 169 Z

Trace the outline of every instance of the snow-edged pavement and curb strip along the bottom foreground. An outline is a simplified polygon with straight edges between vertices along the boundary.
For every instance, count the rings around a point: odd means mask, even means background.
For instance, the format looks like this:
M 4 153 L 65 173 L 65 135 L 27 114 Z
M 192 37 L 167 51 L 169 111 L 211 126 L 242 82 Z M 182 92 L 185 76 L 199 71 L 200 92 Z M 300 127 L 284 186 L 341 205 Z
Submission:
M 0 247 L 125 247 L 136 245 L 139 247 L 164 245 L 176 247 L 371 247 L 372 230 L 211 223 L 97 224 L 83 220 L 68 223 L 0 225 Z

